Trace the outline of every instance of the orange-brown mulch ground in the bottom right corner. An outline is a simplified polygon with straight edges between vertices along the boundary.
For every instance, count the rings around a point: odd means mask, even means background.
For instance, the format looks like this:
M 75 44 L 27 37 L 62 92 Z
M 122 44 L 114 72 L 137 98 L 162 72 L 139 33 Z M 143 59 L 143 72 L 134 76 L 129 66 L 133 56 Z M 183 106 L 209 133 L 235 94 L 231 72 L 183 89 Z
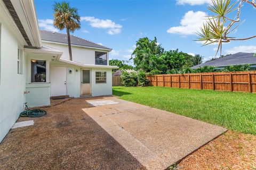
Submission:
M 228 131 L 183 159 L 177 169 L 256 169 L 256 136 Z

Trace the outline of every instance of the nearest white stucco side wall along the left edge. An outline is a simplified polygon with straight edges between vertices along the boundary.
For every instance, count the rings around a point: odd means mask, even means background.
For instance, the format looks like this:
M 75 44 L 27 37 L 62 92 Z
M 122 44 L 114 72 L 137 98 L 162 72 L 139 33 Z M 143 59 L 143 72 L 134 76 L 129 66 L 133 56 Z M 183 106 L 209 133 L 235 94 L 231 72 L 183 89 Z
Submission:
M 12 28 L 1 18 L 1 66 L 0 66 L 0 141 L 19 118 L 25 103 L 26 62 L 23 57 L 23 74 L 18 74 L 17 59 L 19 44 Z

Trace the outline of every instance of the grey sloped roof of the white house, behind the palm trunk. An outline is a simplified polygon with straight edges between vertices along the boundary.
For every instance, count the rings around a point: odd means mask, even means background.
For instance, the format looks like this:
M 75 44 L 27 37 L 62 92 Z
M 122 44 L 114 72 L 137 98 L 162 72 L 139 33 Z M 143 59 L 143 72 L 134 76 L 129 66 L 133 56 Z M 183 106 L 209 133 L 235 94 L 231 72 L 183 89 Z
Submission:
M 41 38 L 44 41 L 51 41 L 57 43 L 65 43 L 68 44 L 68 38 L 66 34 L 56 33 L 52 31 L 40 30 Z M 87 41 L 86 39 L 79 38 L 74 35 L 70 35 L 71 44 L 73 45 L 81 45 L 86 47 L 93 47 L 93 48 L 102 48 L 104 50 L 112 50 L 111 48 Z

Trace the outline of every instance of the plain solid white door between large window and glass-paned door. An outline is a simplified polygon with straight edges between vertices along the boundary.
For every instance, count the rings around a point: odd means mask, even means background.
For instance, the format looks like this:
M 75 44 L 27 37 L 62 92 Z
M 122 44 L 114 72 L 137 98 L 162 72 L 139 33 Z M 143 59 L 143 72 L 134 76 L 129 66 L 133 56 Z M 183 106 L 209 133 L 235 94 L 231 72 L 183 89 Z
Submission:
M 67 95 L 67 68 L 52 67 L 51 96 Z

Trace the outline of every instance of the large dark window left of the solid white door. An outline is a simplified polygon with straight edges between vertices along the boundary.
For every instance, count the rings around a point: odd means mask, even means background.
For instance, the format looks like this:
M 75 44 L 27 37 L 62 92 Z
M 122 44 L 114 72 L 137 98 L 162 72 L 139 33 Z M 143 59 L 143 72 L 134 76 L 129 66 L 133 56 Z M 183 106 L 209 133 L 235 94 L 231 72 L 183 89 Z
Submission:
M 31 60 L 31 83 L 46 82 L 46 61 Z

